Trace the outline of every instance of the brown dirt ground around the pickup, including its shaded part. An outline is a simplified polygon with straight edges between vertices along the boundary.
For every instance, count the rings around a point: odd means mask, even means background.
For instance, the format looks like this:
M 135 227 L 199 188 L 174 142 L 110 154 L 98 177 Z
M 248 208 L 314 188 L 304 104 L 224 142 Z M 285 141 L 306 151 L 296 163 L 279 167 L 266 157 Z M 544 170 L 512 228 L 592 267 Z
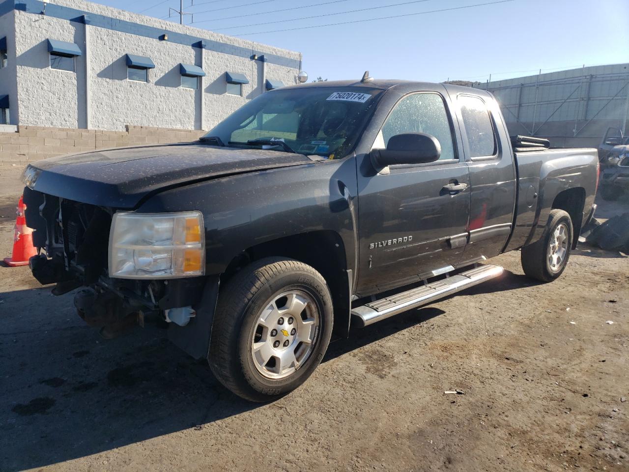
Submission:
M 0 169 L 3 257 L 20 188 Z M 629 471 L 629 258 L 581 245 L 551 284 L 494 261 L 502 278 L 354 330 L 268 405 L 0 267 L 0 470 Z

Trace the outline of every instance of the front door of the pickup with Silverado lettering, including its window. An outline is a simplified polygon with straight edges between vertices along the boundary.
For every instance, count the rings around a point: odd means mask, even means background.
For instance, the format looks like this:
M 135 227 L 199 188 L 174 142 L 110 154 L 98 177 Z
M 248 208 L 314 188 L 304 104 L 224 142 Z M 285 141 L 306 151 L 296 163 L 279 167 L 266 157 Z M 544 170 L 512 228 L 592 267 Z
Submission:
M 457 152 L 452 116 L 442 95 L 422 92 L 401 98 L 373 149 L 386 148 L 389 138 L 409 132 L 436 137 L 442 148 L 440 158 L 379 172 L 372 166 L 358 166 L 359 296 L 450 271 L 465 249 L 469 171 Z M 465 188 L 448 191 L 452 184 Z

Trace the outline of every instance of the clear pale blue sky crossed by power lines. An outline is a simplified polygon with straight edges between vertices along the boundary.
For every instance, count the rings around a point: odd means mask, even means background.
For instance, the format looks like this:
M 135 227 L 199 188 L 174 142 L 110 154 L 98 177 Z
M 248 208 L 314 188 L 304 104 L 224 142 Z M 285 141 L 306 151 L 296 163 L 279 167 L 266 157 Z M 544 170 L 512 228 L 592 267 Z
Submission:
M 379 78 L 484 82 L 489 74 L 508 79 L 629 62 L 629 0 L 494 1 L 184 0 L 184 11 L 198 28 L 302 52 L 311 79 L 360 78 L 369 70 Z M 179 9 L 179 0 L 98 3 L 157 18 Z M 369 10 L 334 14 L 359 9 Z M 298 20 L 304 17 L 311 18 Z

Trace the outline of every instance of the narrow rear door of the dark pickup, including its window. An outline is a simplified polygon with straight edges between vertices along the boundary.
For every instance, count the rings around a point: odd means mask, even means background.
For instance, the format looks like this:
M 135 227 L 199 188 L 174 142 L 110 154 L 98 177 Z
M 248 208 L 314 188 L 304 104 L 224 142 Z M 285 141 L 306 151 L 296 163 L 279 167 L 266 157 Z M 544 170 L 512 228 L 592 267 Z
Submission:
M 513 223 L 516 174 L 496 101 L 462 93 L 454 102 L 471 186 L 469 242 L 459 264 L 464 266 L 498 256 L 506 244 Z

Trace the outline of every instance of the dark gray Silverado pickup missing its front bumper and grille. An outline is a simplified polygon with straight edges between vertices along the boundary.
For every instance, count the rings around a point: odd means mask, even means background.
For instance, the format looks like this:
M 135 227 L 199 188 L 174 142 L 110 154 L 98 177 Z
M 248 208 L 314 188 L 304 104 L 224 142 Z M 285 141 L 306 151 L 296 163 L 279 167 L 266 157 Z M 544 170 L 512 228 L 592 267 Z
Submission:
M 510 139 L 491 94 L 373 80 L 264 93 L 198 142 L 30 164 L 33 275 L 106 337 L 153 321 L 267 401 L 331 337 L 499 277 L 564 271 L 594 212 L 594 149 Z

